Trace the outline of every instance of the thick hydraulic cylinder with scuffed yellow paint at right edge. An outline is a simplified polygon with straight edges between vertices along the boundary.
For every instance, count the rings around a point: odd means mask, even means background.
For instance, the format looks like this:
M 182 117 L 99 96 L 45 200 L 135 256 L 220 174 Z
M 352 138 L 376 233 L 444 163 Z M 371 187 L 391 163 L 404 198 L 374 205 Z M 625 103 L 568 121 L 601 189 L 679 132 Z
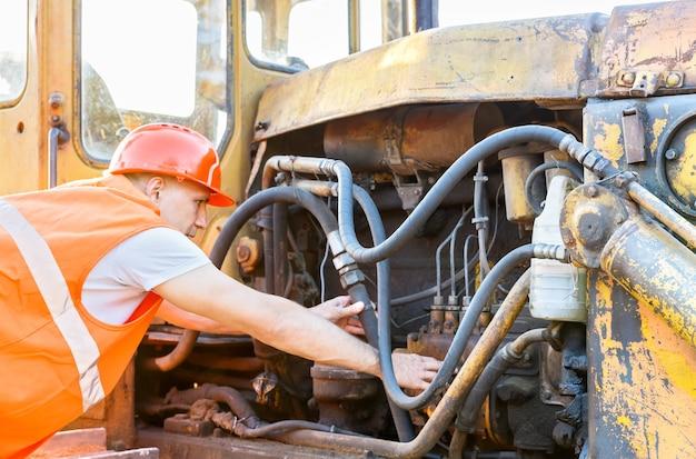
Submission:
M 601 269 L 696 346 L 696 255 L 655 222 L 633 216 L 609 238 Z

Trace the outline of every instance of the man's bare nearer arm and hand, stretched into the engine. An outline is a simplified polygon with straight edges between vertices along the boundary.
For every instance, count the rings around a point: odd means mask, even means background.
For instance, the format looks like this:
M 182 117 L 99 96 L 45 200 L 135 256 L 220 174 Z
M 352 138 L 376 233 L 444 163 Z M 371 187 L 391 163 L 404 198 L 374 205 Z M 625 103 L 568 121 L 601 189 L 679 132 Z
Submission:
M 195 315 L 246 332 L 286 352 L 320 363 L 380 376 L 377 351 L 330 321 L 281 297 L 256 291 L 211 265 L 156 287 L 155 292 Z M 416 355 L 395 355 L 397 380 L 421 389 L 439 362 Z

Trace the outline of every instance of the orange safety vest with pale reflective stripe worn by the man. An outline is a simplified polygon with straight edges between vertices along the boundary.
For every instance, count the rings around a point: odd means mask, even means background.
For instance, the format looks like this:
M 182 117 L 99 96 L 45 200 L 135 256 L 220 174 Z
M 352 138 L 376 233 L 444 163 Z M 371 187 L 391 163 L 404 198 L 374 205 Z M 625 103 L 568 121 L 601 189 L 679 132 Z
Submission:
M 121 241 L 163 226 L 122 176 L 0 197 L 0 458 L 29 455 L 113 389 L 161 299 L 113 326 L 86 311 L 82 286 Z

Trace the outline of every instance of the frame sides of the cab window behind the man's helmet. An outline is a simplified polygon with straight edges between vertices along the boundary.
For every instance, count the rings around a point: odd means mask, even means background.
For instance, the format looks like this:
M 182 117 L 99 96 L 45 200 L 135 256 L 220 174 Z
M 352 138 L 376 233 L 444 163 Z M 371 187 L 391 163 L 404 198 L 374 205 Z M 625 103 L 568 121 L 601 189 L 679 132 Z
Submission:
M 193 1 L 191 0 L 187 0 L 189 3 L 195 4 Z M 227 113 L 227 120 L 226 120 L 226 126 L 225 126 L 225 132 L 222 133 L 222 136 L 220 137 L 220 142 L 219 144 L 217 144 L 216 151 L 218 152 L 218 156 L 220 158 L 220 160 L 225 157 L 225 152 L 227 151 L 229 143 L 235 134 L 235 61 L 232 60 L 233 57 L 233 43 L 235 43 L 235 37 L 233 37 L 233 18 L 232 14 L 235 13 L 233 9 L 232 9 L 232 1 L 233 0 L 223 0 L 225 1 L 225 8 L 226 8 L 226 38 L 227 38 L 227 42 L 226 42 L 226 50 L 227 50 L 227 62 L 226 62 L 226 70 L 225 70 L 225 86 L 226 86 L 226 113 Z M 73 142 L 74 142 L 74 149 L 76 149 L 76 153 L 78 154 L 78 157 L 80 158 L 80 160 L 82 162 L 84 162 L 87 166 L 91 167 L 91 168 L 96 168 L 96 169 L 107 169 L 109 166 L 110 160 L 103 160 L 101 158 L 97 158 L 96 156 L 91 154 L 88 150 L 88 148 L 84 146 L 84 141 L 83 141 L 83 137 L 82 137 L 82 0 L 76 0 L 76 6 L 74 6 L 74 10 L 76 13 L 73 14 L 72 19 L 72 27 L 74 30 L 73 33 L 73 40 L 72 40 L 72 47 L 74 50 L 74 59 L 73 61 L 73 67 L 72 67 L 72 73 L 73 73 L 73 81 L 74 81 L 74 88 L 76 90 L 73 91 L 73 98 L 72 98 L 72 102 L 73 102 L 73 107 L 76 108 L 73 110 L 73 117 L 72 117 L 72 126 L 74 127 L 74 136 L 73 136 Z M 198 11 L 198 9 L 197 9 Z M 198 99 L 199 94 L 198 92 L 196 93 L 196 99 Z M 213 144 L 215 144 L 215 139 L 210 139 Z

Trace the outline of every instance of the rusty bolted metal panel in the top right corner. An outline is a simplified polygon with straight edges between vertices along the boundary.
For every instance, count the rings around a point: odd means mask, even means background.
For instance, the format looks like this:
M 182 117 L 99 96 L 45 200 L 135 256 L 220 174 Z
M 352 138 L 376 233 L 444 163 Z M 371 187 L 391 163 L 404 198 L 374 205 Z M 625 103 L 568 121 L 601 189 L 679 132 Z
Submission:
M 600 93 L 647 97 L 696 88 L 696 2 L 617 7 L 601 49 Z

